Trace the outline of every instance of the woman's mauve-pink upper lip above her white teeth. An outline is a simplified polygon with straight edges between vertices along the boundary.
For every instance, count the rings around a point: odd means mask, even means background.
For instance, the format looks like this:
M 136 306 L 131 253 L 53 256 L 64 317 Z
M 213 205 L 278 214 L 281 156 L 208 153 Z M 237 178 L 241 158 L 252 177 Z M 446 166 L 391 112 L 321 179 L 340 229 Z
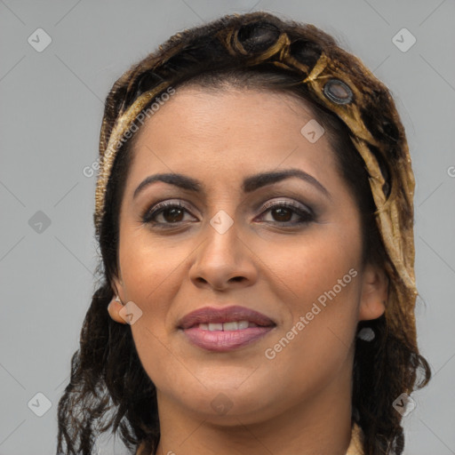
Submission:
M 198 308 L 183 316 L 178 323 L 178 327 L 180 329 L 189 329 L 199 323 L 229 323 L 233 321 L 249 321 L 264 327 L 276 325 L 269 317 L 258 311 L 235 305 L 222 308 Z

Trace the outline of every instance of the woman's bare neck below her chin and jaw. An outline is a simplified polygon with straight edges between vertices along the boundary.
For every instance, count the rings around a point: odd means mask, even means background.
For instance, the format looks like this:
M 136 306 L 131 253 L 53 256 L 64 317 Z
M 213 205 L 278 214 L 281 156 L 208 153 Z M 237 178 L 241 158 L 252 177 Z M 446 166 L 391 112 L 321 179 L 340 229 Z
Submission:
M 351 439 L 351 370 L 319 393 L 273 418 L 226 423 L 197 414 L 158 393 L 161 438 L 156 455 L 346 455 Z

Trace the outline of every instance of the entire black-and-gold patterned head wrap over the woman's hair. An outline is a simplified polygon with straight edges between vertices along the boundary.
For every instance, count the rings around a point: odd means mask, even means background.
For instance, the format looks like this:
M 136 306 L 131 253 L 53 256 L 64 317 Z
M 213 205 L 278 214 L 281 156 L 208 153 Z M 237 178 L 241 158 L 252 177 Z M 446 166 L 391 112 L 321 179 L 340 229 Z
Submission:
M 347 124 L 369 173 L 387 252 L 387 323 L 396 337 L 415 346 L 414 178 L 403 124 L 387 87 L 313 25 L 290 26 L 266 12 L 226 16 L 172 36 L 158 52 L 124 73 L 108 95 L 100 133 L 97 235 L 116 153 L 144 109 L 172 86 L 204 71 L 259 66 L 298 75 L 315 102 Z

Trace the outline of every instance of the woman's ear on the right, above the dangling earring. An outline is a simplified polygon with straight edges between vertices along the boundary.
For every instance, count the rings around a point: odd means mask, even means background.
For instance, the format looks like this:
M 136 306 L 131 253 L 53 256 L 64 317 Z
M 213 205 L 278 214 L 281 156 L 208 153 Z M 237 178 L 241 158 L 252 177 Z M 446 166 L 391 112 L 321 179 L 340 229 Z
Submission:
M 363 269 L 359 321 L 369 321 L 386 311 L 388 278 L 382 267 L 367 264 Z

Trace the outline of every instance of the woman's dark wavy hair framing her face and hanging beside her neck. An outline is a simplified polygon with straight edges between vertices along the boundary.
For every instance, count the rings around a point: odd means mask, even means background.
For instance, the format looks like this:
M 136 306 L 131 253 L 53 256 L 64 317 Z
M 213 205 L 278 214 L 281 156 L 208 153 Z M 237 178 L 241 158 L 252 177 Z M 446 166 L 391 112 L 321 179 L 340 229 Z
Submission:
M 244 14 L 235 20 L 242 17 L 257 17 L 280 28 L 292 28 L 296 33 L 309 30 L 315 42 L 331 48 L 336 46 L 331 36 L 314 26 L 279 20 L 264 12 Z M 225 27 L 228 20 L 233 19 L 226 16 L 172 36 L 160 46 L 159 52 L 134 65 L 125 73 L 130 77 L 134 75 L 133 81 L 123 76 L 109 92 L 105 117 L 115 118 L 125 103 L 131 104 L 148 90 L 154 75 L 140 72 L 140 68 L 149 67 L 151 59 L 163 59 L 165 52 L 170 50 L 173 52 L 172 61 L 168 60 L 166 68 L 169 75 L 180 74 L 178 82 L 172 84 L 176 89 L 198 86 L 212 91 L 259 90 L 287 94 L 301 100 L 327 132 L 340 175 L 355 198 L 362 220 L 363 265 L 384 266 L 387 255 L 375 221 L 377 207 L 371 195 L 368 172 L 353 145 L 347 125 L 330 109 L 316 102 L 308 93 L 306 84 L 299 84 L 301 78 L 295 73 L 267 65 L 247 68 L 236 60 L 224 59 L 220 47 L 209 42 L 206 36 Z M 187 46 L 180 46 L 182 43 Z M 205 45 L 198 47 L 196 44 L 200 43 Z M 175 49 L 180 51 L 175 52 Z M 307 54 L 307 59 L 312 58 Z M 165 78 L 164 72 L 162 76 Z M 380 102 L 379 99 L 379 109 Z M 374 117 L 371 118 L 371 124 L 374 124 Z M 138 132 L 122 144 L 108 180 L 105 212 L 98 235 L 100 283 L 84 318 L 80 347 L 71 360 L 71 379 L 59 402 L 59 453 L 89 455 L 98 435 L 109 429 L 120 435 L 129 449 L 137 450 L 140 446 L 142 453 L 147 454 L 156 451 L 160 438 L 156 387 L 140 363 L 131 329 L 114 322 L 107 310 L 114 297 L 113 277 L 118 272 L 120 204 L 137 137 Z M 380 164 L 387 172 L 387 162 Z M 376 336 L 370 342 L 355 339 L 353 421 L 363 430 L 365 455 L 399 455 L 404 446 L 402 416 L 392 403 L 403 391 L 425 386 L 431 376 L 430 368 L 411 338 L 392 331 L 384 315 L 374 321 L 358 323 L 358 330 L 365 326 L 371 327 Z

